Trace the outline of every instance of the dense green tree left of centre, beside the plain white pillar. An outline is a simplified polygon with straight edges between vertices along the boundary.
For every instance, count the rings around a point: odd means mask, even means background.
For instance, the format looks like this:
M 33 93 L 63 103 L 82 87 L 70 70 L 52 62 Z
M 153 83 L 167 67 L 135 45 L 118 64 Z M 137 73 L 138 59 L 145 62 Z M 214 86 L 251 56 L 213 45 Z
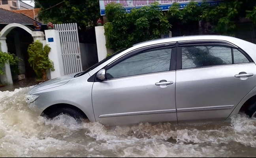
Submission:
M 171 28 L 164 13 L 160 11 L 158 2 L 151 6 L 132 9 L 126 14 L 121 4 L 111 2 L 105 7 L 107 22 L 104 25 L 107 36 L 107 48 L 119 50 L 121 48 L 145 40 L 158 39 Z

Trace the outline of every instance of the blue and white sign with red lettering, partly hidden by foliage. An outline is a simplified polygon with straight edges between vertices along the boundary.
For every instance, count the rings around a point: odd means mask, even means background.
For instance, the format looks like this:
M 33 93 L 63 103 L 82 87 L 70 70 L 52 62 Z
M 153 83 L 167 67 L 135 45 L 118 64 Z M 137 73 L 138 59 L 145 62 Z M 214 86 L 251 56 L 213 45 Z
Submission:
M 201 5 L 203 0 L 99 0 L 100 2 L 100 15 L 105 15 L 105 6 L 111 2 L 120 3 L 125 8 L 126 13 L 130 13 L 134 8 L 141 8 L 143 6 L 150 6 L 151 3 L 157 1 L 162 8 L 162 11 L 169 10 L 170 6 L 174 2 L 178 2 L 181 8 L 186 7 L 190 1 L 198 2 Z M 205 2 L 210 3 L 210 5 L 216 5 L 222 0 L 206 0 Z

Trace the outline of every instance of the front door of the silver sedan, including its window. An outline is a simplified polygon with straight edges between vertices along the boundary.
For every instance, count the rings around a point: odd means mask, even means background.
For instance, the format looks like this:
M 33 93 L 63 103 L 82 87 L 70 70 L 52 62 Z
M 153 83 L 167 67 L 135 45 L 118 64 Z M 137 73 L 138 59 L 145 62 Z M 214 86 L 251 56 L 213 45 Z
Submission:
M 96 121 L 111 126 L 177 123 L 175 50 L 173 44 L 142 48 L 105 67 L 107 79 L 92 87 Z

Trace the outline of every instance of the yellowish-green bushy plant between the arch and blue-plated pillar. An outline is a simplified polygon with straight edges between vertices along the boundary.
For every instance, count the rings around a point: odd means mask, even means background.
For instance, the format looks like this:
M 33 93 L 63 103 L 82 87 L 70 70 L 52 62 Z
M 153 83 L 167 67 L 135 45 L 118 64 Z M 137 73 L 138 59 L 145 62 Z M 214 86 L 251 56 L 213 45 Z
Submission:
M 55 71 L 53 61 L 48 57 L 51 47 L 48 45 L 43 46 L 40 41 L 35 41 L 28 46 L 28 62 L 38 77 L 36 81 L 47 81 L 47 70 Z

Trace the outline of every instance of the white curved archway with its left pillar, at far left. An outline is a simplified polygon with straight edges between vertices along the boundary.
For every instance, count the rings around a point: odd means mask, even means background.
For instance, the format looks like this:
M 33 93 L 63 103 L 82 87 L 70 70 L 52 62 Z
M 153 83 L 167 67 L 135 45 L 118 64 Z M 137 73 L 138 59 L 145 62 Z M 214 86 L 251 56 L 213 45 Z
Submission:
M 8 47 L 7 47 L 7 43 L 6 43 L 6 35 L 8 35 L 8 33 L 13 28 L 16 28 L 16 27 L 22 28 L 26 32 L 28 32 L 33 37 L 34 41 L 39 40 L 42 42 L 45 39 L 45 35 L 41 31 L 34 31 L 31 28 L 28 28 L 27 26 L 24 26 L 22 24 L 17 24 L 17 23 L 8 24 L 0 32 L 0 43 L 1 43 L 0 48 L 3 52 L 8 52 Z M 6 64 L 5 68 L 3 70 L 4 70 L 5 74 L 0 75 L 0 80 L 2 81 L 2 83 L 13 84 L 10 65 Z

